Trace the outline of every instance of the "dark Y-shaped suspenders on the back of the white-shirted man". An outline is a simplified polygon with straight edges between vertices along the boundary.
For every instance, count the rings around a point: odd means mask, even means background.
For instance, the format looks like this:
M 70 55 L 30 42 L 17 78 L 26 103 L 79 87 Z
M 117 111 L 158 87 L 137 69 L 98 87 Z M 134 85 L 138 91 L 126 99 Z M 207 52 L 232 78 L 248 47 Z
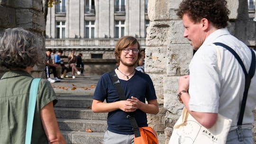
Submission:
M 225 45 L 225 44 L 222 44 L 222 43 L 213 43 L 213 44 L 222 46 L 222 47 L 226 48 L 227 50 L 229 50 L 229 52 L 231 52 L 235 56 L 235 58 L 238 60 L 238 63 L 241 65 L 241 67 L 244 71 L 245 79 L 246 79 L 245 80 L 245 90 L 244 90 L 244 94 L 243 94 L 243 100 L 242 100 L 241 110 L 240 110 L 240 113 L 239 113 L 238 124 L 237 124 L 238 126 L 241 126 L 242 123 L 243 123 L 243 117 L 244 117 L 244 113 L 245 113 L 245 106 L 246 106 L 248 90 L 249 90 L 249 87 L 250 87 L 251 79 L 253 78 L 254 73 L 255 73 L 255 69 L 256 69 L 256 67 L 255 67 L 255 64 L 256 64 L 255 53 L 253 52 L 252 49 L 250 49 L 251 53 L 252 53 L 252 62 L 251 62 L 251 66 L 250 66 L 250 69 L 249 69 L 249 73 L 247 73 L 247 70 L 245 68 L 244 63 L 242 62 L 241 58 L 238 56 L 238 54 L 232 48 L 230 48 L 228 45 Z

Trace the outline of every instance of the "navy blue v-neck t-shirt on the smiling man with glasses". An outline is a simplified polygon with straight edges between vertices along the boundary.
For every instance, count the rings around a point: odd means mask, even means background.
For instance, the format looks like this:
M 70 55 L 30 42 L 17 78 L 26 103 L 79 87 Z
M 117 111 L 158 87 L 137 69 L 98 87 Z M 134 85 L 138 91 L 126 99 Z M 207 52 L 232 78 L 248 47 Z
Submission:
M 131 96 L 136 97 L 140 101 L 145 103 L 145 99 L 156 99 L 155 88 L 153 82 L 148 74 L 142 73 L 136 70 L 133 77 L 128 81 L 120 80 L 121 87 L 126 95 L 127 99 L 131 99 Z M 104 101 L 107 103 L 119 101 L 119 94 L 114 87 L 109 72 L 104 73 L 99 80 L 94 92 L 93 99 Z M 137 109 L 135 112 L 135 118 L 139 127 L 147 126 L 146 113 Z M 108 130 L 123 135 L 132 135 L 132 127 L 126 113 L 121 109 L 109 112 L 108 114 Z

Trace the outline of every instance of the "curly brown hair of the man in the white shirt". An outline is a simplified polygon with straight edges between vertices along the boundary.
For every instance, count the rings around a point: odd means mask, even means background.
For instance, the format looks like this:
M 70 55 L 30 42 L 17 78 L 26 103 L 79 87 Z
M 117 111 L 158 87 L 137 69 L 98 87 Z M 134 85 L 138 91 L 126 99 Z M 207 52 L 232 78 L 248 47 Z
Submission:
M 177 16 L 182 18 L 187 14 L 195 23 L 207 18 L 216 28 L 228 26 L 229 9 L 226 0 L 183 0 Z

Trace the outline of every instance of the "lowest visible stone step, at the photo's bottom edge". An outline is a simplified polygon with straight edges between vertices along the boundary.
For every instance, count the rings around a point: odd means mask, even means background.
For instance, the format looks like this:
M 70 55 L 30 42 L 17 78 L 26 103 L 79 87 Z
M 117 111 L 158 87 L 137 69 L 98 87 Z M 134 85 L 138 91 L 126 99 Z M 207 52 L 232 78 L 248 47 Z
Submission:
M 67 144 L 102 144 L 104 133 L 84 131 L 61 131 Z

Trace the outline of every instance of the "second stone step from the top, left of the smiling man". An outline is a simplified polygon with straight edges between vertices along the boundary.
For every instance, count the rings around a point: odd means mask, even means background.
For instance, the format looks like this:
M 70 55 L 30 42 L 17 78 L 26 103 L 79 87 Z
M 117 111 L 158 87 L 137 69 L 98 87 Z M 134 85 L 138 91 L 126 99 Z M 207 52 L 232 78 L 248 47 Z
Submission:
M 94 113 L 90 108 L 55 107 L 54 111 L 57 118 L 107 120 L 108 117 L 108 113 Z

